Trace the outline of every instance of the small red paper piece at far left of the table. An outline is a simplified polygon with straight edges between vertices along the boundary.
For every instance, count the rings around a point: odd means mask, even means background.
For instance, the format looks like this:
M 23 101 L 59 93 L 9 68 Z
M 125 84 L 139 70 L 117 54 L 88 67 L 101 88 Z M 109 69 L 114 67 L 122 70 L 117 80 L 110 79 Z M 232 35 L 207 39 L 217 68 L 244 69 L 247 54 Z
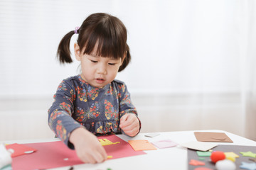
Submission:
M 22 154 L 31 154 L 33 152 L 36 152 L 36 149 L 34 149 L 33 147 L 28 147 L 26 145 L 17 143 L 6 145 L 6 149 L 12 149 L 13 153 L 11 154 L 11 157 L 18 157 Z

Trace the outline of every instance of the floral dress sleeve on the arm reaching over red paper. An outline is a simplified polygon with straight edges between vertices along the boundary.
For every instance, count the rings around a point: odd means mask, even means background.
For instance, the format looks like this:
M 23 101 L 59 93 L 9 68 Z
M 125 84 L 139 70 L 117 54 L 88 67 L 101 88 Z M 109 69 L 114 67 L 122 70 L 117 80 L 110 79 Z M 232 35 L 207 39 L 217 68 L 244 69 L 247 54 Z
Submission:
M 62 81 L 58 86 L 54 99 L 53 105 L 48 110 L 48 125 L 65 145 L 70 149 L 74 149 L 73 144 L 69 142 L 70 133 L 76 128 L 82 127 L 72 118 L 75 88 L 70 85 L 70 82 Z

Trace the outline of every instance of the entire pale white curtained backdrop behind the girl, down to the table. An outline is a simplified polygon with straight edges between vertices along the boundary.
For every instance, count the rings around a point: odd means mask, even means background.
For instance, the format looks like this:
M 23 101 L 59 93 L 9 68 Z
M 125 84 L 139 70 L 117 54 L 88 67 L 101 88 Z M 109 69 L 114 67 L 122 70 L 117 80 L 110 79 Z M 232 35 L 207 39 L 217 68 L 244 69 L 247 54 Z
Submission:
M 60 81 L 79 72 L 78 62 L 55 60 L 60 39 L 105 12 L 127 26 L 132 63 L 117 79 L 143 132 L 219 129 L 256 140 L 255 10 L 254 0 L 0 0 L 0 124 L 6 111 L 47 113 Z

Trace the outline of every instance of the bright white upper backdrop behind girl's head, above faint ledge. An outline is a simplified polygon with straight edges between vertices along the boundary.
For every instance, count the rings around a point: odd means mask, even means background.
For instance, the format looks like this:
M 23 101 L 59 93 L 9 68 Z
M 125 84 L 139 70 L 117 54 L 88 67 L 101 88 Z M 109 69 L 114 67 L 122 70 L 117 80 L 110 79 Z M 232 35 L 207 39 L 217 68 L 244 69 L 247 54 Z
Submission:
M 55 60 L 60 39 L 95 12 L 118 16 L 130 90 L 237 91 L 240 1 L 0 1 L 0 97 L 50 96 L 78 62 Z M 74 35 L 71 47 L 75 42 Z M 73 51 L 73 50 L 71 50 Z M 75 58 L 74 58 L 75 60 Z M 228 68 L 228 69 L 227 69 Z

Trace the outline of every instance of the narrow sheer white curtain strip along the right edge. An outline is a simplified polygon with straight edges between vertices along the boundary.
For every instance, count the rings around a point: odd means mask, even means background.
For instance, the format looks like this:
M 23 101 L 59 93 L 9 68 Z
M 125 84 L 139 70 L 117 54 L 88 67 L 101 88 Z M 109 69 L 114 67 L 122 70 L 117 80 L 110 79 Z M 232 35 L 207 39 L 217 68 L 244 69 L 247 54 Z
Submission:
M 241 3 L 240 99 L 245 136 L 256 140 L 256 2 Z

